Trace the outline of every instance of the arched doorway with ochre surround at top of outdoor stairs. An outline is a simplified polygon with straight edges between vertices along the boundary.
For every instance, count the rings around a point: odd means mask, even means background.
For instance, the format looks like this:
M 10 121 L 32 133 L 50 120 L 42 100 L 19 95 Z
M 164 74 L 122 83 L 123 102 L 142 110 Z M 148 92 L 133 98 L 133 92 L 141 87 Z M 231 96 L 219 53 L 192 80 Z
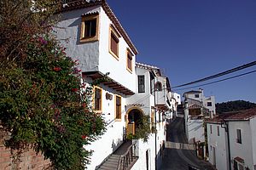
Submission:
M 135 134 L 143 117 L 143 111 L 137 107 L 131 108 L 126 112 L 126 135 Z

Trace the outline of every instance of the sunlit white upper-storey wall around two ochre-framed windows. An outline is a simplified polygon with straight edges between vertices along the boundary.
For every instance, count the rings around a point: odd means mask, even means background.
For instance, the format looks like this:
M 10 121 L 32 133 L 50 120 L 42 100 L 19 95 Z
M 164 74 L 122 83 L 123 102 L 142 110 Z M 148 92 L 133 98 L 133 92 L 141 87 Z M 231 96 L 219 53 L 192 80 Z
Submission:
M 116 82 L 124 85 L 126 88 L 135 92 L 136 89 L 136 73 L 135 73 L 135 55 L 132 59 L 132 73 L 126 70 L 126 48 L 129 48 L 123 37 L 119 38 L 119 60 L 115 59 L 112 54 L 108 52 L 109 41 L 109 26 L 113 24 L 108 19 L 108 15 L 102 9 L 100 15 L 100 59 L 99 70 L 103 73 L 109 72 L 109 77 Z

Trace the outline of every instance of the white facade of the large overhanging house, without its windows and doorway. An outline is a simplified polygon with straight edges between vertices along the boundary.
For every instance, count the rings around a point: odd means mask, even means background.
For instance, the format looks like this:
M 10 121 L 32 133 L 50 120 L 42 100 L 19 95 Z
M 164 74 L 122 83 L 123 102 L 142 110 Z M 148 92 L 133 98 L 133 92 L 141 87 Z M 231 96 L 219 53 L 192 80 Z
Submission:
M 156 134 L 149 136 L 148 142 L 142 139 L 137 143 L 138 159 L 131 169 L 145 169 L 146 153 L 148 157 L 148 169 L 158 169 L 161 166 L 162 150 L 166 140 L 166 122 L 163 118 L 165 111 L 156 107 L 156 104 L 166 106 L 166 77 L 157 76 L 156 73 L 147 69 L 135 67 L 137 50 L 130 38 L 126 35 L 123 27 L 114 16 L 107 3 L 101 1 L 90 2 L 92 5 L 78 6 L 70 10 L 64 10 L 61 14 L 61 21 L 55 28 L 56 36 L 64 47 L 67 48 L 67 56 L 79 59 L 79 69 L 83 72 L 84 82 L 92 82 L 97 77 L 102 77 L 109 72 L 110 82 L 102 82 L 97 85 L 101 91 L 101 111 L 107 123 L 106 132 L 90 145 L 86 150 L 93 150 L 90 156 L 88 169 L 96 169 L 108 158 L 126 138 L 129 112 L 133 109 L 142 111 L 144 115 L 151 118 L 157 129 Z M 72 3 L 72 2 L 71 2 Z M 84 5 L 81 4 L 81 5 Z M 89 3 L 88 3 L 89 4 Z M 95 4 L 95 5 L 94 5 Z M 68 8 L 68 4 L 67 4 Z M 84 17 L 96 15 L 96 40 L 83 42 L 81 40 Z M 117 34 L 118 57 L 110 53 L 110 37 L 112 31 Z M 127 52 L 131 53 L 131 69 L 127 69 Z M 156 68 L 156 67 L 154 67 Z M 159 71 L 159 69 L 157 69 Z M 137 76 L 145 77 L 145 92 L 138 93 Z M 154 79 L 152 80 L 152 75 Z M 162 82 L 163 90 L 157 94 L 154 90 L 154 83 Z M 164 99 L 159 96 L 164 93 Z M 108 96 L 108 97 L 107 97 Z M 109 97 L 112 96 L 112 97 Z M 121 117 L 116 118 L 115 97 L 121 99 Z M 162 96 L 161 96 L 162 97 Z M 168 108 L 168 107 L 167 107 Z M 154 114 L 153 114 L 154 113 Z

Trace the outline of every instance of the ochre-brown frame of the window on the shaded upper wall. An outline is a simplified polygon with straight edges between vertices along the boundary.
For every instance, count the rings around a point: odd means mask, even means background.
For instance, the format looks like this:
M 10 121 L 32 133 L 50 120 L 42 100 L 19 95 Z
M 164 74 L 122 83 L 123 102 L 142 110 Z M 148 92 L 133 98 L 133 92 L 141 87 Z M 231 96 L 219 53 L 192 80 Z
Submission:
M 85 37 L 86 26 L 85 22 L 96 20 L 96 35 L 92 37 Z M 80 42 L 93 42 L 99 40 L 99 14 L 86 14 L 82 15 L 81 29 L 80 29 Z

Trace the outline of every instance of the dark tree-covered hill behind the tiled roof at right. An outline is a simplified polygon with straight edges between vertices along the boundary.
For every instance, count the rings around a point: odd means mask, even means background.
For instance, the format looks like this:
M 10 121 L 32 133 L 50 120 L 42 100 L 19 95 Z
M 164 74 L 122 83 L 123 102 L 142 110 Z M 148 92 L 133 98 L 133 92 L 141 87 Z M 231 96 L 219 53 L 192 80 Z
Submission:
M 216 111 L 218 114 L 228 111 L 241 111 L 256 107 L 255 103 L 244 100 L 228 101 L 216 104 Z

